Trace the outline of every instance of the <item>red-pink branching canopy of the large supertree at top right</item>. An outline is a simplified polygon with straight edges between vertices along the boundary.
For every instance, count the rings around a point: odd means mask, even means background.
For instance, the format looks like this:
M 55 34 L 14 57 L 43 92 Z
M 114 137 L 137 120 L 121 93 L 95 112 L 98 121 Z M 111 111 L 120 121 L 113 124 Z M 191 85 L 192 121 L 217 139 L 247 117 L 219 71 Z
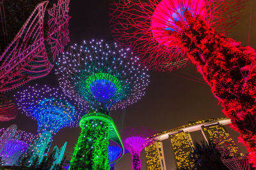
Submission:
M 188 62 L 184 49 L 173 43 L 168 31 L 178 31 L 177 21 L 186 23 L 184 11 L 201 15 L 207 24 L 227 32 L 239 18 L 242 0 L 115 0 L 110 6 L 111 30 L 116 41 L 132 46 L 141 64 L 152 69 L 173 70 Z

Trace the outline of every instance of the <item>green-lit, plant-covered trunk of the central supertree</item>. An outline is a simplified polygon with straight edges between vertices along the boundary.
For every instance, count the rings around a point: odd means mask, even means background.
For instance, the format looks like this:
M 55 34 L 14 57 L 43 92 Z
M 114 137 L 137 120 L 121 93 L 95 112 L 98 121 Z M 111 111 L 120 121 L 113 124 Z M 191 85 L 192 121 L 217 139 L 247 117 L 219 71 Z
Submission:
M 80 126 L 82 131 L 70 162 L 70 169 L 109 169 L 108 124 L 100 120 L 88 120 Z

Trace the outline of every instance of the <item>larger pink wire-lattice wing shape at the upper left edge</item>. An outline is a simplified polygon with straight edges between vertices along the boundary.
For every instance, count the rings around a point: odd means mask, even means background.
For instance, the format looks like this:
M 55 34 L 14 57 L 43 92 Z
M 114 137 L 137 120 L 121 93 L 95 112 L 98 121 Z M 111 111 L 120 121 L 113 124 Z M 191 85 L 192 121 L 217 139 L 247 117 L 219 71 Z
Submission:
M 0 58 L 0 92 L 47 75 L 52 65 L 44 46 L 44 13 L 47 1 L 38 4 Z

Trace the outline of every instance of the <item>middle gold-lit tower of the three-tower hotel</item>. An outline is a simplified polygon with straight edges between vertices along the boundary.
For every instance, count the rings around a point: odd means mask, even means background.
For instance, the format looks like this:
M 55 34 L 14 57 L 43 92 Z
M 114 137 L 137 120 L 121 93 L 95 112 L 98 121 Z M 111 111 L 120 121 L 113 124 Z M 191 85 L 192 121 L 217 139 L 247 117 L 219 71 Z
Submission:
M 180 131 L 169 135 L 169 140 L 174 153 L 177 169 L 190 169 L 193 167 L 191 153 L 193 153 L 193 142 L 188 132 Z

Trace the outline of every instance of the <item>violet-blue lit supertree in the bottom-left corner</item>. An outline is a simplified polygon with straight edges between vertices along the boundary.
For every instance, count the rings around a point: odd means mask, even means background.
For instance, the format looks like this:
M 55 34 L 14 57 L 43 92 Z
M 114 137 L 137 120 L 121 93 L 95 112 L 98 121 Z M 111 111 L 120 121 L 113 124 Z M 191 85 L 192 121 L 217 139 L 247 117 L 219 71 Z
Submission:
M 24 131 L 16 131 L 12 139 L 9 139 L 1 150 L 4 166 L 13 166 L 19 162 L 20 157 L 26 152 L 34 135 Z

